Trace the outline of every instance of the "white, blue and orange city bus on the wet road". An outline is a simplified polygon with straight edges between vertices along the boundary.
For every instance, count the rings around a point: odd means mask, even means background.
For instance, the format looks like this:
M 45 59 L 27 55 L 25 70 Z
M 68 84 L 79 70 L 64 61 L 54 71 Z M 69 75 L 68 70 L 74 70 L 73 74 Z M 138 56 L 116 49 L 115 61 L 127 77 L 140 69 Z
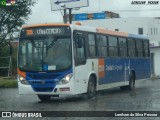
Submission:
M 19 94 L 85 95 L 113 87 L 135 88 L 150 78 L 149 39 L 83 25 L 22 27 L 18 50 Z

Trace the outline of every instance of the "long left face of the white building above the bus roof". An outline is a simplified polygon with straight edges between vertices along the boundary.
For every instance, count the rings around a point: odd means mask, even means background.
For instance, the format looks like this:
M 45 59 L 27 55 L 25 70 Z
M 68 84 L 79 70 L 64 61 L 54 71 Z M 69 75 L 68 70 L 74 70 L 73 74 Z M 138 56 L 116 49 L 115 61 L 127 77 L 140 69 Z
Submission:
M 106 28 L 109 30 L 119 29 L 122 32 L 138 34 L 138 28 L 144 28 L 144 34 L 148 34 L 148 23 L 151 18 L 114 18 L 102 20 L 80 21 L 83 25 Z

